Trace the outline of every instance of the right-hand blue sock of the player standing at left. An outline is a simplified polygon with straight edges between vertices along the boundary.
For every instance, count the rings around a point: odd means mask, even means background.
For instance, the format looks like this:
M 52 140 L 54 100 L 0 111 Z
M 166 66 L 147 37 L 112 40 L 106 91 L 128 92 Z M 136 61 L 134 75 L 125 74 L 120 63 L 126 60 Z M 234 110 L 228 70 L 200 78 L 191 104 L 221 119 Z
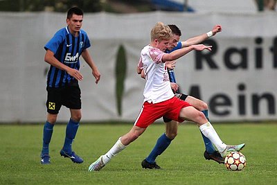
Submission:
M 62 148 L 62 150 L 64 150 L 64 152 L 68 153 L 69 155 L 71 155 L 72 153 L 71 145 L 72 145 L 73 139 L 75 139 L 75 135 L 77 133 L 78 127 L 79 127 L 79 122 L 75 122 L 72 119 L 69 120 L 69 123 L 66 126 L 64 147 Z

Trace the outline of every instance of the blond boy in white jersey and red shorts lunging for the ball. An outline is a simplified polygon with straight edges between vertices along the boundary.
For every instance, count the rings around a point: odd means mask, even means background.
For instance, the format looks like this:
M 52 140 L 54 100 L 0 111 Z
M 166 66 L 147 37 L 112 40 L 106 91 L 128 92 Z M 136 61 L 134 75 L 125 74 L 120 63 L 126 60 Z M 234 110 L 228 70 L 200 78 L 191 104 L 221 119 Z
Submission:
M 238 148 L 241 149 L 244 146 L 244 144 L 227 146 L 221 141 L 213 126 L 208 122 L 202 112 L 199 112 L 189 103 L 174 96 L 171 91 L 165 62 L 177 60 L 193 50 L 202 51 L 207 49 L 211 51 L 211 46 L 198 44 L 173 51 L 172 53 L 164 53 L 171 38 L 172 32 L 170 28 L 162 22 L 158 22 L 152 28 L 151 42 L 141 51 L 140 65 L 143 65 L 146 80 L 141 112 L 139 112 L 139 116 L 136 118 L 132 129 L 127 134 L 120 136 L 118 141 L 116 141 L 114 146 L 105 155 L 101 155 L 94 161 L 89 166 L 89 171 L 102 169 L 112 157 L 124 150 L 129 143 L 139 138 L 149 125 L 162 116 L 179 122 L 183 122 L 184 120 L 195 122 L 201 132 L 217 147 L 222 156 Z

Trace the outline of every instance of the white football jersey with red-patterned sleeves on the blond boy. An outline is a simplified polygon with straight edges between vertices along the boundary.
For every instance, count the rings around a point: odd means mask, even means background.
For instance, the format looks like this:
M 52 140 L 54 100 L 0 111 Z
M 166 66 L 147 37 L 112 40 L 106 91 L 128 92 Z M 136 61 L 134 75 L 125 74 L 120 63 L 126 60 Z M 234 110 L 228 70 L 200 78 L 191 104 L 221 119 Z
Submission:
M 165 53 L 152 46 L 145 46 L 141 51 L 138 67 L 145 71 L 144 100 L 149 103 L 160 103 L 174 96 L 166 64 L 161 62 Z

